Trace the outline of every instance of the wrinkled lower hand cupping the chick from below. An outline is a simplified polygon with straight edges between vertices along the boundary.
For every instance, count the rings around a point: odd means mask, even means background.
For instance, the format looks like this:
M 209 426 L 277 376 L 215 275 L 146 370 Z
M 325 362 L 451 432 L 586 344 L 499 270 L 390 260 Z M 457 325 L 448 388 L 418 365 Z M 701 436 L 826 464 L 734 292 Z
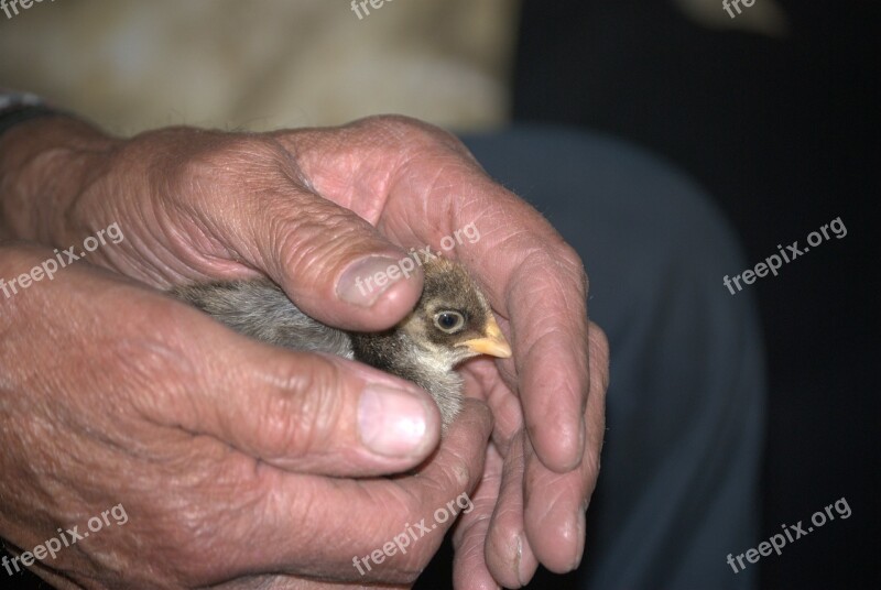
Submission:
M 0 277 L 54 255 L 0 247 Z M 477 484 L 491 429 L 469 402 L 416 477 L 347 479 L 414 468 L 437 442 L 374 451 L 365 420 L 399 425 L 363 392 L 424 408 L 436 435 L 425 392 L 252 341 L 87 262 L 0 293 L 0 535 L 18 554 L 56 539 L 34 568 L 57 588 L 410 584 L 455 520 L 436 511 L 468 510 L 450 501 Z M 406 524 L 405 555 L 356 566 Z

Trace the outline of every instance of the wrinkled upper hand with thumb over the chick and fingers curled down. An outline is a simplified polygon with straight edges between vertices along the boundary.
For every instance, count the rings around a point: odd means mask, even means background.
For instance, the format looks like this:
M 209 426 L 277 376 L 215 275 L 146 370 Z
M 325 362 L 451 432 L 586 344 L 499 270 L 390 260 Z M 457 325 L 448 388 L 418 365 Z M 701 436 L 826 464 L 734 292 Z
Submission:
M 459 142 L 400 118 L 269 135 L 171 129 L 129 141 L 65 124 L 45 132 L 59 148 L 24 142 L 11 162 L 36 187 L 8 200 L 8 225 L 66 245 L 118 222 L 127 240 L 91 260 L 156 286 L 264 272 L 323 321 L 381 329 L 412 308 L 421 275 L 367 293 L 356 280 L 395 264 L 401 247 L 437 251 L 475 223 L 480 239 L 448 255 L 482 284 L 515 356 L 468 367 L 496 427 L 482 502 L 456 536 L 456 580 L 519 586 L 536 560 L 555 571 L 577 566 L 608 347 L 586 318 L 578 256 Z M 39 212 L 48 210 L 64 215 Z

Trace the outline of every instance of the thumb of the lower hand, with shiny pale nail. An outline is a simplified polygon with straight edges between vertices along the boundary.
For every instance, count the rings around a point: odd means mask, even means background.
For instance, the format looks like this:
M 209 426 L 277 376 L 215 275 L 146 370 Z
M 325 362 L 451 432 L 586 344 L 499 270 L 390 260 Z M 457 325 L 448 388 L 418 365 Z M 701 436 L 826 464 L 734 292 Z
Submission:
M 151 299 L 141 308 L 153 325 L 128 351 L 132 376 L 188 385 L 137 400 L 153 420 L 283 469 L 334 476 L 409 469 L 437 446 L 437 406 L 412 383 L 338 357 L 270 347 L 165 297 Z M 157 307 L 163 334 L 150 318 Z

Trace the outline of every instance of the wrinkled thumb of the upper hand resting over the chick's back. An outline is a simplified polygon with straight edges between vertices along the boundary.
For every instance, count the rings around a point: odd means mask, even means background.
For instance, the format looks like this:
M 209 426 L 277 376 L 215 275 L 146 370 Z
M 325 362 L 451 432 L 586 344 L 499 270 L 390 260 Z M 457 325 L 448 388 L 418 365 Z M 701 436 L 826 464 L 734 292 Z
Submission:
M 222 139 L 180 173 L 206 192 L 181 204 L 184 218 L 199 226 L 187 239 L 211 237 L 208 250 L 265 271 L 325 324 L 379 330 L 413 308 L 422 291 L 422 270 L 413 258 L 315 193 L 274 140 Z

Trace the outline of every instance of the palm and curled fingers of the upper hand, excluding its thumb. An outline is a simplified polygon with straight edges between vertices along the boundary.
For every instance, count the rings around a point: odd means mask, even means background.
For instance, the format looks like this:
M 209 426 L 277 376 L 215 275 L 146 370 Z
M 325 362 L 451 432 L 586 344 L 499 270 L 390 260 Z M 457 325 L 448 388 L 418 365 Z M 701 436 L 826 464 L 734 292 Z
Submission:
M 450 252 L 482 284 L 514 358 L 469 364 L 496 417 L 476 509 L 463 517 L 455 581 L 518 587 L 537 561 L 580 562 L 599 472 L 608 342 L 587 320 L 580 259 L 529 205 L 493 183 L 452 135 L 401 118 L 278 132 L 311 186 L 394 243 L 432 244 L 474 223 Z

